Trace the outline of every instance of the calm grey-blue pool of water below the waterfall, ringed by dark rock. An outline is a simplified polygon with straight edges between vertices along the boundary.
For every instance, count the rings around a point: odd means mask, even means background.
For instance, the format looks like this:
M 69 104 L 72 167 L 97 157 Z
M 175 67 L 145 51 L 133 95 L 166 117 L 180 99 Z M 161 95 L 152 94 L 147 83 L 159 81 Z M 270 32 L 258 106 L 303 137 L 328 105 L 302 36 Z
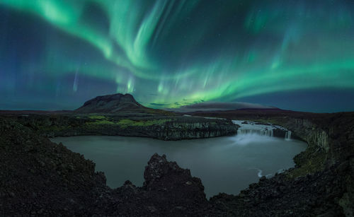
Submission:
M 302 141 L 257 134 L 183 141 L 126 136 L 57 137 L 52 141 L 93 160 L 112 188 L 122 186 L 125 180 L 142 186 L 149 158 L 154 153 L 166 154 L 167 160 L 201 178 L 207 197 L 219 192 L 238 194 L 262 175 L 291 168 L 292 158 L 307 147 Z

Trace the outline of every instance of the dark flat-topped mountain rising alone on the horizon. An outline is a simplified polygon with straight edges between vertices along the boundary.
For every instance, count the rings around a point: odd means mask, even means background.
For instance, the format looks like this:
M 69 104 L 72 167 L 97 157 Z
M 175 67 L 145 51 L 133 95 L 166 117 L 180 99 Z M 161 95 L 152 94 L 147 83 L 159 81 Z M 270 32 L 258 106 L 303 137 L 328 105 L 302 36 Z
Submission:
M 139 104 L 134 97 L 126 94 L 101 95 L 84 103 L 76 112 L 82 113 L 115 113 L 124 110 L 144 110 L 147 107 Z

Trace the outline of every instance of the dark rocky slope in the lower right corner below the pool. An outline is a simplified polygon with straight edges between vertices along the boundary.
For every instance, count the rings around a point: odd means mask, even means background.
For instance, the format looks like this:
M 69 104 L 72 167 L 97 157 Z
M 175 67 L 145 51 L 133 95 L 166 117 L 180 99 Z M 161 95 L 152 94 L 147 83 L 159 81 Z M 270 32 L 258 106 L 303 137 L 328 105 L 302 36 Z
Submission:
M 347 161 L 295 179 L 287 176 L 291 171 L 262 177 L 239 195 L 219 194 L 210 202 L 229 216 L 353 216 L 347 193 L 353 169 Z

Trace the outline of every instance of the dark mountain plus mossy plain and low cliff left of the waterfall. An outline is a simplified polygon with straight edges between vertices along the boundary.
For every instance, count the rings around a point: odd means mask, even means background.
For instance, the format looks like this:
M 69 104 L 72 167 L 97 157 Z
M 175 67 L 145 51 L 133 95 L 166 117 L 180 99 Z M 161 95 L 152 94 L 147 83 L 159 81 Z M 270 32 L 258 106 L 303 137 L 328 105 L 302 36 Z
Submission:
M 41 136 L 144 136 L 155 139 L 199 139 L 236 134 L 229 119 L 187 117 L 140 105 L 130 94 L 98 96 L 74 111 L 2 111 Z

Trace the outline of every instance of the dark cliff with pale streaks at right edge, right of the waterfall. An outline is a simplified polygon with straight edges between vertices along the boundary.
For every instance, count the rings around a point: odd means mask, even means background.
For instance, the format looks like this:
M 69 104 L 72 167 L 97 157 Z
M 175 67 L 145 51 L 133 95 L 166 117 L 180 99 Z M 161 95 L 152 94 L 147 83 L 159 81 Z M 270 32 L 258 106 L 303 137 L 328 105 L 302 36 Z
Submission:
M 273 117 L 272 121 L 290 129 L 309 144 L 307 151 L 295 157 L 298 165 L 316 163 L 319 167 L 314 171 L 318 171 L 348 160 L 354 154 L 353 113 L 314 115 L 312 118 L 306 115 Z

